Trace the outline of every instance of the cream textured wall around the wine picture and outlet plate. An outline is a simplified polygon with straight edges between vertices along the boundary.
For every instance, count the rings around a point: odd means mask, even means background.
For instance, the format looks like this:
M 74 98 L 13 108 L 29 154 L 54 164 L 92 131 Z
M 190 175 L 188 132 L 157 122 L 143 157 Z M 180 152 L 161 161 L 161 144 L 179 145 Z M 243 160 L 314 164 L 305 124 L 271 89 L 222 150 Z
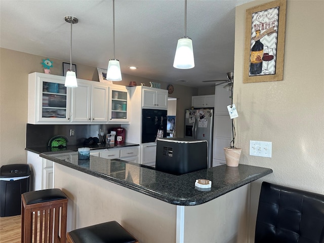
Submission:
M 246 9 L 263 3 L 236 8 L 233 98 L 240 163 L 271 168 L 266 181 L 324 194 L 324 1 L 287 1 L 284 80 L 243 84 Z M 271 141 L 272 157 L 250 156 L 249 140 Z M 252 183 L 252 222 L 259 186 Z

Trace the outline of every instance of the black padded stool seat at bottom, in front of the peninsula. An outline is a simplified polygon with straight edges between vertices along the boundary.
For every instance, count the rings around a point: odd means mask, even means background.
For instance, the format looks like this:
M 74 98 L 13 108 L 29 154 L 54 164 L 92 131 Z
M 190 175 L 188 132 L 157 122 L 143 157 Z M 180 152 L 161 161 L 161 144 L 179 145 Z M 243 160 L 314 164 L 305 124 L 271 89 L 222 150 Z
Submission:
M 96 224 L 67 233 L 67 243 L 139 243 L 116 221 Z

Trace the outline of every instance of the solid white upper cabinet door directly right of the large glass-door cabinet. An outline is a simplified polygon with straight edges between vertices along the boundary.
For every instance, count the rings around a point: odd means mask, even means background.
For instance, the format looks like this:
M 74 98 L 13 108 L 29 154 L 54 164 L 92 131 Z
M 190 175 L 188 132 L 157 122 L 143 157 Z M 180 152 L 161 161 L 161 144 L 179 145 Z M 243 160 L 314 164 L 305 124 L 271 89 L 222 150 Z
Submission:
M 78 82 L 72 89 L 72 121 L 91 120 L 91 85 Z

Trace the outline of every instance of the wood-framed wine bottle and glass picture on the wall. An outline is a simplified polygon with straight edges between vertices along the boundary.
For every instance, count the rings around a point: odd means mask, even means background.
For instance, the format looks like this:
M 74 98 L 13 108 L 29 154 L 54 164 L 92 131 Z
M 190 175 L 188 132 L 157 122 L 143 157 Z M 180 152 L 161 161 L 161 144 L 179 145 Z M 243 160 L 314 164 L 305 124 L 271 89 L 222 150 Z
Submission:
M 247 9 L 243 83 L 283 79 L 286 0 Z

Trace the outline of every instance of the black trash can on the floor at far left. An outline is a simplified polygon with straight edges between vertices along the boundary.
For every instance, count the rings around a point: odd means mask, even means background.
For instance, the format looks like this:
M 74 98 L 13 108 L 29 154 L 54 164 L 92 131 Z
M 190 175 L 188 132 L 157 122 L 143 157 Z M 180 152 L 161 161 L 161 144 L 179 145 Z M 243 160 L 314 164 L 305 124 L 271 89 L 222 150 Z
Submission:
M 0 216 L 21 214 L 21 194 L 29 191 L 30 168 L 25 164 L 0 168 Z

